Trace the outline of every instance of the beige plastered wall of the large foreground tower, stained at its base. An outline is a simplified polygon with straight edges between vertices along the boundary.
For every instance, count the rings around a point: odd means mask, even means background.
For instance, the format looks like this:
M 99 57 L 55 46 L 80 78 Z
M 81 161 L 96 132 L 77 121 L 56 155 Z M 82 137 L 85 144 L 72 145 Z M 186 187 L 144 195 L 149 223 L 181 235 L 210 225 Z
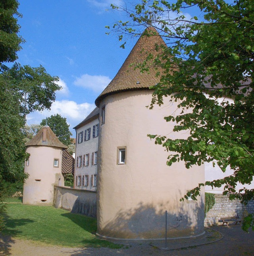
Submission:
M 119 239 L 186 237 L 204 232 L 204 190 L 198 201 L 180 202 L 188 190 L 204 182 L 204 166 L 186 169 L 166 165 L 168 152 L 147 134 L 186 138 L 172 132 L 164 116 L 177 111 L 164 102 L 153 110 L 152 92 L 130 91 L 107 96 L 105 124 L 100 126 L 98 156 L 98 234 Z M 126 164 L 117 164 L 117 147 L 126 147 Z

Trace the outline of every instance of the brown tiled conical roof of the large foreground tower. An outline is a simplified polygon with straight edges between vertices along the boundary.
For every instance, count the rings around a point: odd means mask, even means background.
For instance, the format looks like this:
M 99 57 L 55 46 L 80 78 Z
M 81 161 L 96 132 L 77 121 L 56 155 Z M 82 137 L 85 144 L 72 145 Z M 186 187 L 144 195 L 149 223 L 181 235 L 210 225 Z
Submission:
M 160 78 L 156 77 L 156 73 L 158 71 L 162 72 L 162 69 L 158 67 L 158 70 L 156 70 L 154 65 L 151 65 L 152 61 L 150 61 L 150 65 L 148 62 L 150 66 L 148 72 L 140 73 L 139 68 L 135 69 L 137 64 L 142 64 L 146 60 L 148 54 L 158 55 L 158 51 L 155 49 L 156 45 L 165 45 L 165 42 L 156 29 L 149 27 L 139 38 L 114 79 L 95 100 L 97 107 L 107 95 L 120 91 L 148 89 L 160 81 Z

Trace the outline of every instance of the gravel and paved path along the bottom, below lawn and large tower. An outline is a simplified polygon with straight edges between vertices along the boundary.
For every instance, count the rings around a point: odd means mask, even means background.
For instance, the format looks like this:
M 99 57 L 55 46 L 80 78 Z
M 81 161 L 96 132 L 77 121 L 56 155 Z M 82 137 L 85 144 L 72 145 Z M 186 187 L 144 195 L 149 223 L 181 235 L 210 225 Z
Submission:
M 199 246 L 192 245 L 191 248 L 177 250 L 163 250 L 164 242 L 150 244 L 129 244 L 121 249 L 110 248 L 66 248 L 53 245 L 44 245 L 28 240 L 0 237 L 0 255 L 13 256 L 81 256 L 81 255 L 254 255 L 254 231 L 245 233 L 240 226 L 214 227 L 216 231 L 223 234 L 223 239 L 210 244 Z M 209 239 L 207 240 L 209 242 Z M 197 242 L 198 243 L 198 242 Z M 173 248 L 179 241 L 169 241 Z M 180 245 L 186 247 L 191 243 L 182 241 Z M 173 247 L 172 247 L 173 246 Z

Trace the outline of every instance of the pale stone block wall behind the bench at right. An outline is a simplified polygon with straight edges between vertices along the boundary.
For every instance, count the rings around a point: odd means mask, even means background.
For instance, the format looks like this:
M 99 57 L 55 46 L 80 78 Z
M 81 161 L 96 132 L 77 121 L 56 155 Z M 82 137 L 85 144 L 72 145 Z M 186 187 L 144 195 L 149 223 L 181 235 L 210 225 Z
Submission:
M 215 194 L 215 204 L 204 220 L 205 226 L 219 225 L 219 218 L 239 216 L 241 219 L 249 213 L 254 213 L 254 201 L 250 201 L 246 206 L 237 199 L 229 200 L 228 196 Z

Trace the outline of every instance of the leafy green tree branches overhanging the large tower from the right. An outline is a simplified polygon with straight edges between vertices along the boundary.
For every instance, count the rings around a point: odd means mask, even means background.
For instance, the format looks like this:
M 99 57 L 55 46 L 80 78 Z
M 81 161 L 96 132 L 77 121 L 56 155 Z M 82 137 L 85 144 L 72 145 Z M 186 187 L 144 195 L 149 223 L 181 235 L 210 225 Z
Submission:
M 231 199 L 239 198 L 244 203 L 253 200 L 254 190 L 235 190 L 237 182 L 250 184 L 254 176 L 252 1 L 141 0 L 133 8 L 112 8 L 128 19 L 113 25 L 112 30 L 120 33 L 120 41 L 124 35 L 140 34 L 150 26 L 164 37 L 166 46 L 157 46 L 158 55 L 147 56 L 147 60 L 153 59 L 154 65 L 163 69 L 158 72 L 160 83 L 152 87 L 150 108 L 165 101 L 178 102 L 181 114 L 166 116 L 165 120 L 177 123 L 175 132 L 189 132 L 186 140 L 148 135 L 156 144 L 174 152 L 167 165 L 185 161 L 189 168 L 213 162 L 223 172 L 230 166 L 233 175 L 205 184 L 224 186 L 223 194 L 231 192 Z M 184 13 L 192 9 L 197 15 L 187 19 Z M 147 30 L 145 36 L 151 35 L 154 33 Z M 121 47 L 124 45 L 125 42 Z M 147 68 L 145 64 L 142 72 Z M 199 184 L 188 195 L 195 199 L 205 184 Z M 245 220 L 245 230 L 254 228 L 253 216 Z

